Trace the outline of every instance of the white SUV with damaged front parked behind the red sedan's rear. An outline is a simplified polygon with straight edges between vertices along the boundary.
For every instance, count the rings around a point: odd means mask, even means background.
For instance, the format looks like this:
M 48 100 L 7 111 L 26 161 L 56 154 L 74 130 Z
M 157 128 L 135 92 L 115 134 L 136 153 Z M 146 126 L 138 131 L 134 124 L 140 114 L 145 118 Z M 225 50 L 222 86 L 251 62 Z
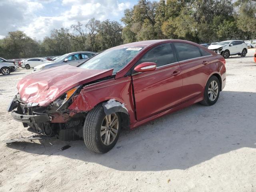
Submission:
M 216 45 L 210 45 L 208 49 L 221 54 L 225 59 L 230 55 L 240 55 L 245 57 L 247 54 L 248 47 L 244 41 L 241 40 L 231 40 L 222 41 Z

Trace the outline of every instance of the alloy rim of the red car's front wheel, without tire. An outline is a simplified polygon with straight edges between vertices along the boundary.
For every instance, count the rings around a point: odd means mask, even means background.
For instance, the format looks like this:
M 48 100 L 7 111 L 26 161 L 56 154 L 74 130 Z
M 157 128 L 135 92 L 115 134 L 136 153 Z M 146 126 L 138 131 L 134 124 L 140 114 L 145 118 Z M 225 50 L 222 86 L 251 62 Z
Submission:
M 104 145 L 110 145 L 116 139 L 119 128 L 118 116 L 116 113 L 106 115 L 103 119 L 100 138 Z

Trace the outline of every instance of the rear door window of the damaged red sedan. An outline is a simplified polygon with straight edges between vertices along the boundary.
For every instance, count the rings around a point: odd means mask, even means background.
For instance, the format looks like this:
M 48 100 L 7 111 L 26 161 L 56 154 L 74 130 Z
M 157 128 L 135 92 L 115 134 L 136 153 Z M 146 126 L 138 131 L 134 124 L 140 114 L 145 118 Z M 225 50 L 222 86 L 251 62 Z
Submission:
M 188 43 L 174 43 L 180 61 L 201 57 L 199 48 Z

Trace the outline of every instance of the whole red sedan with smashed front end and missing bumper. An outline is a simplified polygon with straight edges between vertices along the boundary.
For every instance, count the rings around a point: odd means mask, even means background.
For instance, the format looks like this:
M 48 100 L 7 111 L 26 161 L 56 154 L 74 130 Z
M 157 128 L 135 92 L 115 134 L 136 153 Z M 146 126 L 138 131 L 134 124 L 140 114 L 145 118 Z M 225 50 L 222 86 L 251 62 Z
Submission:
M 150 40 L 26 76 L 8 111 L 33 132 L 83 138 L 88 149 L 105 153 L 121 128 L 197 102 L 213 105 L 225 84 L 221 55 L 189 41 Z

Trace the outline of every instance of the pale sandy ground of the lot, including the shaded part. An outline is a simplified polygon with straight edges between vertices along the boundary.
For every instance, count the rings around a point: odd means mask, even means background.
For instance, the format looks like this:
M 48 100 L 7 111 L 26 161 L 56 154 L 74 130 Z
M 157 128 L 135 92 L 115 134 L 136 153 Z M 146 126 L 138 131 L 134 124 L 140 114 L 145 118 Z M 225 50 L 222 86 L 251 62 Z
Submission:
M 214 106 L 195 104 L 122 132 L 107 154 L 82 140 L 0 143 L 0 191 L 256 192 L 254 52 L 226 60 L 226 87 Z M 0 75 L 0 140 L 32 135 L 6 112 L 30 72 Z

